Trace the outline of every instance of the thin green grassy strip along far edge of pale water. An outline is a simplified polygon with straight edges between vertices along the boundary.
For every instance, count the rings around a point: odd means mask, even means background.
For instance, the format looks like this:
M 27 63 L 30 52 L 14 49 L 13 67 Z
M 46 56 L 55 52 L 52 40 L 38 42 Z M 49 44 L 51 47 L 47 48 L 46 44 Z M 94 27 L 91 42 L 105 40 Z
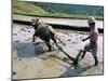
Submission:
M 54 18 L 73 18 L 73 19 L 87 19 L 87 17 L 89 16 L 86 16 L 86 15 L 67 15 L 67 14 L 58 14 L 58 13 L 56 13 L 56 14 L 51 14 L 51 13 L 49 13 L 49 14 L 44 14 L 44 15 L 42 15 L 42 14 L 21 14 L 21 13 L 14 13 L 14 14 L 18 14 L 18 15 L 25 15 L 25 16 L 33 16 L 33 17 L 54 17 Z M 95 16 L 95 18 L 96 19 L 98 19 L 98 21 L 103 21 L 103 17 L 100 17 L 100 16 Z

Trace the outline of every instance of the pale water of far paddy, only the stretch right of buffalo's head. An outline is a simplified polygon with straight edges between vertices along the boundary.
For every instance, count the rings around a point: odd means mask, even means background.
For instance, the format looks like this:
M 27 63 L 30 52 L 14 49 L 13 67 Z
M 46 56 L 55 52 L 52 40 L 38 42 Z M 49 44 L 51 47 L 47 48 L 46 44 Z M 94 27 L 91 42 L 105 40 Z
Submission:
M 69 26 L 79 26 L 79 27 L 87 27 L 87 19 L 69 19 L 69 18 L 42 18 L 41 21 L 51 23 L 51 24 L 59 24 L 59 25 L 69 25 Z M 103 21 L 96 22 L 96 27 L 103 27 Z

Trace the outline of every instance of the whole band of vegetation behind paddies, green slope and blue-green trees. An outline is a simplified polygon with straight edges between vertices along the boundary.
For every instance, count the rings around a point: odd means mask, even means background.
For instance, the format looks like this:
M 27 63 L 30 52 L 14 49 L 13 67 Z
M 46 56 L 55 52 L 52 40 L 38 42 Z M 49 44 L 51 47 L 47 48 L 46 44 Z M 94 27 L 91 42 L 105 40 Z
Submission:
M 93 15 L 98 19 L 103 19 L 103 6 L 13 0 L 13 14 L 30 16 L 87 18 L 89 15 Z

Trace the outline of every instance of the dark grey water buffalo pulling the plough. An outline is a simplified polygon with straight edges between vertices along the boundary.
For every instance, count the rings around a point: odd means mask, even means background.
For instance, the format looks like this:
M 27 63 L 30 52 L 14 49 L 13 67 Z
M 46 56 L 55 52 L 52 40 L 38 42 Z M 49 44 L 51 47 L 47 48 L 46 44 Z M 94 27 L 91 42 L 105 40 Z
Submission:
M 50 44 L 50 39 L 52 39 L 54 41 L 54 43 L 57 45 L 57 42 L 55 39 L 55 32 L 54 32 L 54 29 L 52 28 L 52 26 L 44 24 L 42 22 L 39 22 L 39 18 L 32 18 L 31 24 L 35 28 L 35 33 L 32 36 L 32 42 L 35 42 L 36 37 L 39 37 L 46 43 L 49 51 L 52 51 L 52 49 L 51 49 L 52 45 Z

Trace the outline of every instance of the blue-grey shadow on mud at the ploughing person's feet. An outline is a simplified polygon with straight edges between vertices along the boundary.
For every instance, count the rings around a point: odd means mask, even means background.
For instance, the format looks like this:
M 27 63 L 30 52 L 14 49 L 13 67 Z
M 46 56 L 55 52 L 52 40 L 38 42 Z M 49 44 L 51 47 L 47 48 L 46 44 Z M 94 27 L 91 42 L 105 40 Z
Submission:
M 64 72 L 60 77 L 73 77 L 73 76 L 79 76 L 83 73 L 84 71 L 91 69 L 93 66 L 87 66 L 87 67 L 81 67 L 80 65 L 78 66 L 70 66 L 67 68 L 66 72 Z

